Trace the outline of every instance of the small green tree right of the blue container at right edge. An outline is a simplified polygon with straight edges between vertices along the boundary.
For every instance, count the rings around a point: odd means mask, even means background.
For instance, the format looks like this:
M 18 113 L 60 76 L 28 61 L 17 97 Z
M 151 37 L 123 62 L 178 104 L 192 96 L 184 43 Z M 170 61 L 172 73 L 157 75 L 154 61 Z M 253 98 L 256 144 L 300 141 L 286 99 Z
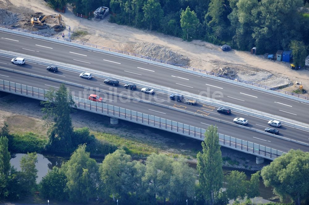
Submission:
M 308 46 L 306 46 L 302 41 L 292 40 L 289 44 L 293 55 L 293 64 L 296 66 L 305 65 L 305 59 L 307 57 Z

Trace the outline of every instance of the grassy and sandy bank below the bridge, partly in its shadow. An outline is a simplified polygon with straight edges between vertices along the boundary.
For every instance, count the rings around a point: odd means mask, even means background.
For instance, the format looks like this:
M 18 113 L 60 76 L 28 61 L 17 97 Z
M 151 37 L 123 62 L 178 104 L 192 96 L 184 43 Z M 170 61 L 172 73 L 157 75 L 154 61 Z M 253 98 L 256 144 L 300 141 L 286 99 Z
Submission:
M 42 120 L 41 108 L 39 100 L 0 92 L 0 127 L 6 121 L 11 134 L 32 133 L 40 139 L 47 139 L 48 127 Z M 88 127 L 96 139 L 125 149 L 133 159 L 146 159 L 151 153 L 164 153 L 175 158 L 187 158 L 188 162 L 196 164 L 196 154 L 201 151 L 201 141 L 178 134 L 122 120 L 118 125 L 111 125 L 109 117 L 81 110 L 71 116 L 74 128 Z M 257 165 L 254 155 L 225 147 L 221 151 L 224 167 L 256 171 L 271 162 L 265 160 Z M 91 155 L 102 157 L 100 153 Z

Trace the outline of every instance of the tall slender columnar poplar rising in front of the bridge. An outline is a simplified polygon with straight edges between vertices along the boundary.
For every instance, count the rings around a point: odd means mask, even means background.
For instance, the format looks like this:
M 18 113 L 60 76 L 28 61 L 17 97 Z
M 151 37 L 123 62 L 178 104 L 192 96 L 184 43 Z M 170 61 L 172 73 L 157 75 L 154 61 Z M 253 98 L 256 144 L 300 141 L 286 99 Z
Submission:
M 217 127 L 209 126 L 202 142 L 202 152 L 197 154 L 199 183 L 206 203 L 214 204 L 215 197 L 222 187 L 222 154 Z

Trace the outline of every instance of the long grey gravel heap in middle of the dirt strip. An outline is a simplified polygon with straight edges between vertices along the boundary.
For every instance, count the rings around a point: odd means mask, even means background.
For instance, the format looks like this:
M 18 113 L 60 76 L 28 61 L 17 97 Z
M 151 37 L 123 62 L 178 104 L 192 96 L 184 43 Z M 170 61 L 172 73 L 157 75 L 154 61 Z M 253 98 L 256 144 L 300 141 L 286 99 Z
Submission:
M 190 59 L 171 49 L 159 46 L 154 43 L 140 42 L 133 46 L 136 54 L 145 55 L 150 58 L 164 60 L 170 63 L 188 65 Z

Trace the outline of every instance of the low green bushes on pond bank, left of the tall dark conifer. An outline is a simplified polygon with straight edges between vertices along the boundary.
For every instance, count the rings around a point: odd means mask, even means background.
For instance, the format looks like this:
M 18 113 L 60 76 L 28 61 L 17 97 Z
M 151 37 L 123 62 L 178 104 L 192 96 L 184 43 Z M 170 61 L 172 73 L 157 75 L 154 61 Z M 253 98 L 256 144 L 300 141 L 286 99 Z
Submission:
M 44 146 L 47 144 L 47 139 L 40 137 L 32 132 L 19 134 L 11 134 L 9 137 L 9 150 L 14 150 L 20 153 L 41 153 L 44 151 Z

